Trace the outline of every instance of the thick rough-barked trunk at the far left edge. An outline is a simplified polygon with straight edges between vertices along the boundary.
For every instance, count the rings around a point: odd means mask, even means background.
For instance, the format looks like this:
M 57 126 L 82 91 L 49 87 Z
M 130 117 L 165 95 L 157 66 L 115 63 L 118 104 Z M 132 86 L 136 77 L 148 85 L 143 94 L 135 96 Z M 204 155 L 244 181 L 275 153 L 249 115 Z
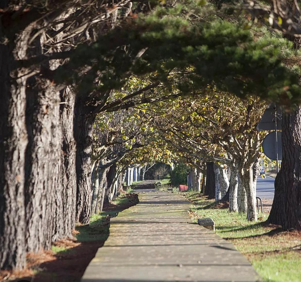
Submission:
M 0 37 L 4 38 L 2 35 L 0 24 Z M 12 82 L 13 79 L 10 77 L 11 68 L 14 67 L 12 55 L 13 47 L 10 44 L 0 44 L 0 269 L 22 269 L 26 264 L 24 204 L 27 145 L 26 79 L 23 77 Z M 14 73 L 14 77 L 22 75 L 24 74 Z

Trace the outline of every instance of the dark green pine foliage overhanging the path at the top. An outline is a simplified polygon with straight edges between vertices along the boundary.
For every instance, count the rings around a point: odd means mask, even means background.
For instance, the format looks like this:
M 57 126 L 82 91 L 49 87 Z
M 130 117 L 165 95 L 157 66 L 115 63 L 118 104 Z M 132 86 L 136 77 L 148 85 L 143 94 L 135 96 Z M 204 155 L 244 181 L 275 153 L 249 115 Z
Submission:
M 208 17 L 198 16 L 202 9 Z M 79 92 L 86 93 L 97 78 L 103 93 L 120 89 L 132 75 L 170 87 L 169 74 L 176 70 L 178 79 L 172 83 L 183 95 L 209 84 L 242 98 L 251 94 L 287 105 L 298 102 L 299 76 L 283 63 L 292 55 L 291 45 L 277 37 L 254 40 L 254 31 L 217 20 L 212 9 L 193 8 L 189 1 L 134 17 L 94 44 L 76 48 L 56 80 L 77 83 Z

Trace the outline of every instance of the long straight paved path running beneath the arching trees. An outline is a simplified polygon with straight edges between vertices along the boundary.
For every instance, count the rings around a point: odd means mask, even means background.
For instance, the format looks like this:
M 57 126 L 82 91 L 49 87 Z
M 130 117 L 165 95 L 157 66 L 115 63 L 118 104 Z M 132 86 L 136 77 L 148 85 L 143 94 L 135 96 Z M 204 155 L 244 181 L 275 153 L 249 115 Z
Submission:
M 191 221 L 183 197 L 156 191 L 139 200 L 111 219 L 82 282 L 258 280 L 231 243 Z

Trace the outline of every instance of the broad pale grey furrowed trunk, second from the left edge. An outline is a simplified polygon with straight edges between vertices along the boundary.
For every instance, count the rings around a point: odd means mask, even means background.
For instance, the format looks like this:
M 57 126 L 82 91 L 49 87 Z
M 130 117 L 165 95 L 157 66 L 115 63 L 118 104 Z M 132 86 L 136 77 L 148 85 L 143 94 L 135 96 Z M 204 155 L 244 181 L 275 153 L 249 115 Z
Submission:
M 32 78 L 36 83 L 36 79 Z M 48 82 L 45 81 L 45 84 Z M 51 248 L 53 239 L 63 236 L 63 195 L 61 167 L 60 93 L 50 82 L 46 91 L 26 91 L 28 146 L 25 165 L 27 251 Z M 58 211 L 58 212 L 57 212 Z

